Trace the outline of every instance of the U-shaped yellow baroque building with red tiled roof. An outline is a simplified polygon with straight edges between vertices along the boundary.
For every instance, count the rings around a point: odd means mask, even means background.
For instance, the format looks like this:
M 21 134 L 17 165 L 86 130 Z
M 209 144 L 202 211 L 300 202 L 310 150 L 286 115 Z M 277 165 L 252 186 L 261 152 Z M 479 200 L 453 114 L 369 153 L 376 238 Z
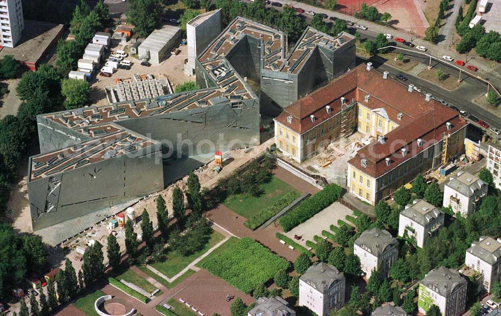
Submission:
M 467 123 L 454 110 L 360 65 L 284 109 L 275 142 L 298 162 L 358 131 L 374 141 L 348 161 L 347 190 L 372 205 L 464 152 Z

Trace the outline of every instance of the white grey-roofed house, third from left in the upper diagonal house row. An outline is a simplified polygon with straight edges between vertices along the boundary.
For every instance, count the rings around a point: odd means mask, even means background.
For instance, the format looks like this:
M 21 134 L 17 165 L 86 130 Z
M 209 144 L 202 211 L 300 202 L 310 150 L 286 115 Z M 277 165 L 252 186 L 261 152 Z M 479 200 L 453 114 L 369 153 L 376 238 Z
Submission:
M 425 241 L 443 227 L 444 218 L 444 212 L 438 207 L 425 200 L 416 199 L 400 212 L 398 235 L 414 239 L 418 247 L 423 247 Z

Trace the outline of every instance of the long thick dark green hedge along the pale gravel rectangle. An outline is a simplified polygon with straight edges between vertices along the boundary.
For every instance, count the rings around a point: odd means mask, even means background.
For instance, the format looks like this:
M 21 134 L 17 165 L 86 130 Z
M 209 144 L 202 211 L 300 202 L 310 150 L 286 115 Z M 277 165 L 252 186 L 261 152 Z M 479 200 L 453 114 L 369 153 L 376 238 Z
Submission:
M 280 218 L 280 225 L 285 232 L 312 218 L 315 214 L 331 205 L 341 196 L 343 188 L 329 184 L 322 191 L 301 202 L 295 209 Z

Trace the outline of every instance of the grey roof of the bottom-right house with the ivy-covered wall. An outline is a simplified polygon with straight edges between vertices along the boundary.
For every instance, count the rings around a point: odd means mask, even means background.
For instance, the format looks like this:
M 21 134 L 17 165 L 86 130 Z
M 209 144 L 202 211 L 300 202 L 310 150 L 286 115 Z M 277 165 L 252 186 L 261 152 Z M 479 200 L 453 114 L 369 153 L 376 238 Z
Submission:
M 448 297 L 458 286 L 466 284 L 466 279 L 456 270 L 441 266 L 429 271 L 421 280 L 421 284 L 428 288 L 432 284 L 441 296 Z

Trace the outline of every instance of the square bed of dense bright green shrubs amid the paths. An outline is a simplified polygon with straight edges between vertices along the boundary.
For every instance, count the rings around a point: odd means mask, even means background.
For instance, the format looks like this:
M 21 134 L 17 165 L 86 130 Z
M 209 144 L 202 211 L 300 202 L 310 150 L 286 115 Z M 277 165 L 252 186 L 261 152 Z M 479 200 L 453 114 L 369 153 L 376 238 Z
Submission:
M 248 294 L 289 268 L 289 261 L 245 237 L 203 262 L 202 267 Z

